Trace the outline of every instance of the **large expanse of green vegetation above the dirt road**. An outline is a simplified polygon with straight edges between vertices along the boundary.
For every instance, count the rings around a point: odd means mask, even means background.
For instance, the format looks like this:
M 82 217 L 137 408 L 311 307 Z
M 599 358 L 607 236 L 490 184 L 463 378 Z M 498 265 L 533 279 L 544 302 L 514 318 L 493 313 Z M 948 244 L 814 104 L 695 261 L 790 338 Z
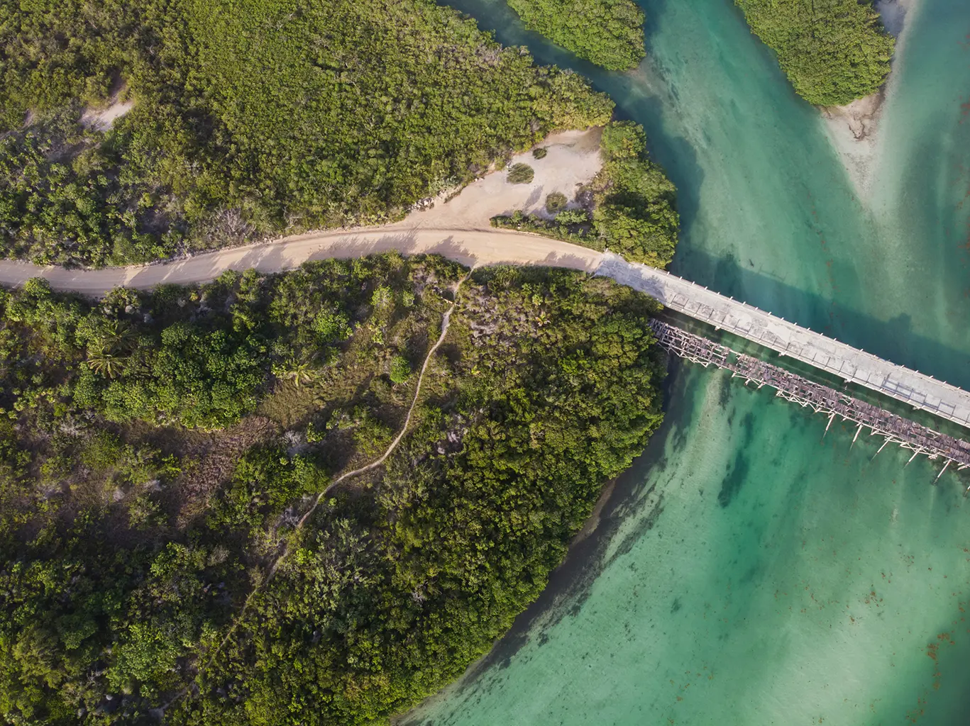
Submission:
M 105 132 L 83 107 L 134 108 Z M 431 0 L 0 8 L 0 252 L 102 266 L 379 223 L 608 98 Z

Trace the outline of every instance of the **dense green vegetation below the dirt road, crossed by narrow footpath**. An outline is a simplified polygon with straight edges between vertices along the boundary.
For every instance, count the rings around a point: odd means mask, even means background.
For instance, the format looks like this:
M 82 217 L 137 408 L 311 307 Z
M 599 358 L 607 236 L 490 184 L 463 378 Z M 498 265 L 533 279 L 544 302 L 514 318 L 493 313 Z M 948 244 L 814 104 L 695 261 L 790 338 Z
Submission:
M 464 274 L 0 291 L 0 720 L 386 723 L 490 647 L 659 425 L 663 364 L 629 288 L 478 270 L 400 447 L 311 512 L 400 431 Z

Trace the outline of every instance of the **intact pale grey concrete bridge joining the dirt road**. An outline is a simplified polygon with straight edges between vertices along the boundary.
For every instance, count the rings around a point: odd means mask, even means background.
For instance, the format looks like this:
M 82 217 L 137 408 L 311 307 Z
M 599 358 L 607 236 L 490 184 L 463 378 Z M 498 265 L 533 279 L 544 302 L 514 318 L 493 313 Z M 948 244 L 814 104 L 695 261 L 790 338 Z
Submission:
M 970 393 L 932 376 L 884 361 L 662 269 L 629 263 L 620 255 L 605 253 L 597 274 L 644 292 L 671 310 L 970 427 Z

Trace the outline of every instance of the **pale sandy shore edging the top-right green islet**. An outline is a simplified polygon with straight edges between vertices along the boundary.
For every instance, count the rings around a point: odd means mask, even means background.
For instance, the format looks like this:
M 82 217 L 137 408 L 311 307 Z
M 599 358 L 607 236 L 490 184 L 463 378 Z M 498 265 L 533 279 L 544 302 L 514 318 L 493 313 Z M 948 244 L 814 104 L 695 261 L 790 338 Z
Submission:
M 920 0 L 877 0 L 876 10 L 896 39 L 889 79 L 871 96 L 846 106 L 820 107 L 829 140 L 835 146 L 860 197 L 868 194 L 877 157 L 877 137 L 883 110 L 895 85 L 897 66 L 905 52 L 909 30 L 921 7 Z

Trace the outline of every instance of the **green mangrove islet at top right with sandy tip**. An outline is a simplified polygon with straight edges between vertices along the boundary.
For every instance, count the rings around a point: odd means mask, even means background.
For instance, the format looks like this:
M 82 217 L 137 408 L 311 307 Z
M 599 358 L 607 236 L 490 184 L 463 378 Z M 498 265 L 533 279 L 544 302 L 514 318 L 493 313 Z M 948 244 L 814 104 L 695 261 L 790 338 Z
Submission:
M 871 0 L 735 2 L 810 104 L 843 106 L 878 91 L 889 75 L 894 41 Z

